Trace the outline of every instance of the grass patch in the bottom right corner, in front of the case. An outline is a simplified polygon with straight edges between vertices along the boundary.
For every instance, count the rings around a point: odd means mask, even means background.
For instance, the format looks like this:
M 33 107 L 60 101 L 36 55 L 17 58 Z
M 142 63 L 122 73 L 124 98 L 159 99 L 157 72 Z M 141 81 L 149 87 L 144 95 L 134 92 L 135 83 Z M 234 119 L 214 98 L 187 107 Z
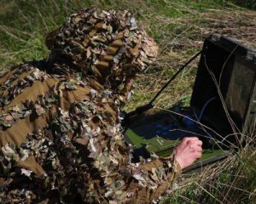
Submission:
M 163 199 L 163 203 L 230 203 L 254 204 L 255 150 L 244 155 L 231 156 L 229 160 L 206 169 L 203 174 L 194 174 L 188 182 L 180 182 L 180 188 Z

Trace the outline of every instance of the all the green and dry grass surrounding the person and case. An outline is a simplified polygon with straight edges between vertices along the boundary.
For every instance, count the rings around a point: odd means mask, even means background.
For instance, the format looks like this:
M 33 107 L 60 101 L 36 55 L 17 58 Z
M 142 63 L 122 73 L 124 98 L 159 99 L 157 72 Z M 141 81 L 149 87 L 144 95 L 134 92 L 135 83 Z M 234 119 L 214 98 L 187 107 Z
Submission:
M 233 1 L 234 2 L 234 1 Z M 239 2 L 239 1 L 238 1 Z M 253 8 L 253 1 L 242 6 Z M 250 5 L 250 3 L 252 5 Z M 256 13 L 222 0 L 1 0 L 0 70 L 23 60 L 44 59 L 48 50 L 44 35 L 83 7 L 129 9 L 160 45 L 160 54 L 147 75 L 136 81 L 136 94 L 126 111 L 147 103 L 163 84 L 192 55 L 201 49 L 212 32 L 236 38 L 256 48 Z M 188 104 L 195 80 L 197 61 L 177 77 L 155 105 Z M 252 139 L 247 136 L 247 139 Z M 253 143 L 253 142 L 252 142 Z M 230 156 L 218 167 L 207 168 L 192 178 L 181 178 L 162 203 L 255 203 L 256 152 L 247 148 Z

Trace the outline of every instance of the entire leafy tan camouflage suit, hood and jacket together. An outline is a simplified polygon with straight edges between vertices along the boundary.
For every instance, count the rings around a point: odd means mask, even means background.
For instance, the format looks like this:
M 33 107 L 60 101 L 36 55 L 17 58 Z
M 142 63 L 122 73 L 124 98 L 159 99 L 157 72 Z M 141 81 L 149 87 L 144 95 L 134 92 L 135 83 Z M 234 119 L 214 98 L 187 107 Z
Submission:
M 132 163 L 119 105 L 158 52 L 127 11 L 84 8 L 49 33 L 49 58 L 0 73 L 0 203 L 150 203 L 181 172 Z

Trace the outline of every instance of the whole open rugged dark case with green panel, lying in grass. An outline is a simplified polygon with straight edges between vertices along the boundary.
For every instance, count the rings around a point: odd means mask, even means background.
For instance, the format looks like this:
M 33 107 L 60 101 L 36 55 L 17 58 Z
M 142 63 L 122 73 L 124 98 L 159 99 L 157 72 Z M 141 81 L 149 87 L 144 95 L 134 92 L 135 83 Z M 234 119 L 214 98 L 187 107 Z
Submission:
M 180 139 L 197 136 L 203 155 L 192 167 L 218 161 L 255 134 L 256 52 L 229 37 L 204 42 L 189 107 L 175 105 L 127 122 L 125 140 L 139 156 L 169 156 Z M 131 122 L 132 121 L 132 122 Z

